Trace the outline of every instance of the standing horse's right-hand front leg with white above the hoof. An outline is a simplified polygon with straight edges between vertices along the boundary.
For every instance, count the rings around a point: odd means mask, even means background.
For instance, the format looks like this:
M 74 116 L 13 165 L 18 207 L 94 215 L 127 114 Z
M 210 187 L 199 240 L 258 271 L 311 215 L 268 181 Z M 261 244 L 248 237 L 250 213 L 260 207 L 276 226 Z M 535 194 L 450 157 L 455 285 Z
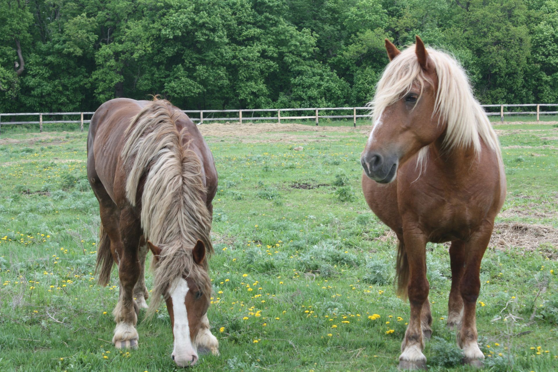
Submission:
M 480 260 L 482 260 L 492 234 L 493 225 L 485 223 L 465 243 L 466 261 L 463 277 L 459 284 L 463 298 L 463 319 L 457 335 L 457 344 L 463 349 L 463 363 L 482 368 L 484 354 L 477 343 L 477 320 L 475 309 L 480 291 Z

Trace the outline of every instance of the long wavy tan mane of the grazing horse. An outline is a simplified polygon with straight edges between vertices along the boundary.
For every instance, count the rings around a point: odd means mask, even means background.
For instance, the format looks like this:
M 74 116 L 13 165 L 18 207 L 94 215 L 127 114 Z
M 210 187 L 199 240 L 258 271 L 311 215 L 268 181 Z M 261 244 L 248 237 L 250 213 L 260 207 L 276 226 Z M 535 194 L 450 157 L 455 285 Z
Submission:
M 158 261 L 152 262 L 155 279 L 149 314 L 177 277 L 191 277 L 205 296 L 211 293 L 207 260 L 200 267 L 192 257 L 198 239 L 205 244 L 207 256 L 213 253 L 211 216 L 201 162 L 189 148 L 186 129 L 176 128 L 175 121 L 182 115 L 167 100 L 154 98 L 131 120 L 121 154 L 128 172 L 126 197 L 132 205 L 145 176 L 141 225 L 146 240 L 161 248 Z

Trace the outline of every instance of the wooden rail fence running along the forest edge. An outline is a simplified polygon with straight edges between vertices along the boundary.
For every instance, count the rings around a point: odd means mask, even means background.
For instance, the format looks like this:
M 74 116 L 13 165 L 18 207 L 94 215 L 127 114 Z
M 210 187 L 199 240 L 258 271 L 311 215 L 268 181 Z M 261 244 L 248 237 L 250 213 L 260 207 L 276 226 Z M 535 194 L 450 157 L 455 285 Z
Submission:
M 541 107 L 557 107 L 558 104 L 555 103 L 532 103 L 532 104 L 503 104 L 503 105 L 482 105 L 485 108 L 491 107 L 499 107 L 500 112 L 487 112 L 487 115 L 500 115 L 500 120 L 504 121 L 504 115 L 530 115 L 536 114 L 537 121 L 539 120 L 540 114 L 558 114 L 558 111 L 541 111 Z M 504 108 L 509 107 L 536 107 L 536 111 L 521 111 L 521 112 L 511 112 L 506 111 L 504 112 Z M 350 111 L 352 110 L 351 115 L 320 115 L 320 111 L 329 111 L 333 112 L 335 110 L 345 110 Z M 300 109 L 241 109 L 241 110 L 183 110 L 185 113 L 189 114 L 190 119 L 194 122 L 198 122 L 198 124 L 203 124 L 204 122 L 209 121 L 233 121 L 233 122 L 240 122 L 242 123 L 243 120 L 277 120 L 278 123 L 281 123 L 281 120 L 292 120 L 292 119 L 314 119 L 316 125 L 319 125 L 320 119 L 353 119 L 353 126 L 357 126 L 357 118 L 367 118 L 369 117 L 369 107 L 326 107 L 326 108 L 300 108 Z M 306 113 L 312 113 L 312 115 L 302 115 L 302 116 L 293 116 L 292 112 L 297 111 L 305 111 Z M 357 111 L 359 114 L 357 114 Z M 257 116 L 254 117 L 253 113 L 255 112 L 272 112 L 273 116 Z M 363 113 L 364 112 L 364 113 Z M 229 118 L 215 118 L 213 117 L 214 113 L 238 113 L 238 117 L 229 117 Z M 243 113 L 252 113 L 252 116 L 243 116 Z M 286 113 L 286 115 L 285 115 Z M 191 115 L 191 114 L 198 114 L 198 115 Z M 79 115 L 79 120 L 43 120 L 43 117 L 50 117 L 55 115 L 65 115 L 65 116 L 74 116 Z M 12 125 L 12 124 L 39 124 L 39 131 L 42 132 L 42 125 L 43 124 L 52 124 L 52 123 L 79 123 L 80 129 L 83 132 L 83 124 L 89 123 L 91 119 L 84 119 L 84 115 L 93 115 L 93 112 L 70 112 L 70 113 L 14 113 L 14 114 L 2 114 L 0 113 L 0 133 L 2 133 L 2 125 Z M 15 116 L 39 116 L 39 121 L 27 121 L 27 122 L 17 122 L 17 121 L 7 121 L 6 117 L 15 117 Z M 193 117 L 198 116 L 198 118 Z

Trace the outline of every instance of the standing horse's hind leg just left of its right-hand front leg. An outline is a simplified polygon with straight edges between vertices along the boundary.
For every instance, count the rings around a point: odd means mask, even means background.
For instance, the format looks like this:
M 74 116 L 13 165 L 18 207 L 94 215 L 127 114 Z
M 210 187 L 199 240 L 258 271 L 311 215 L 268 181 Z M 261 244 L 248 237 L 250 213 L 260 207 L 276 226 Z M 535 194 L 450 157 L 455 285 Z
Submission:
M 463 277 L 465 257 L 466 251 L 463 241 L 452 241 L 450 246 L 451 290 L 448 301 L 448 322 L 446 323 L 451 330 L 459 330 L 463 317 L 463 298 L 461 297 L 459 284 Z

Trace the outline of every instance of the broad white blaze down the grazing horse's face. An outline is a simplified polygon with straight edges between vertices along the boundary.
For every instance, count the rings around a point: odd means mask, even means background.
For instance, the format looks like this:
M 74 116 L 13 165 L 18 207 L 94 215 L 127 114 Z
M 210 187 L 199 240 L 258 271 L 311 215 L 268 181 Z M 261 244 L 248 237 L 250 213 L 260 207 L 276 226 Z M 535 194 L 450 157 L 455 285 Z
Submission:
M 172 313 L 174 315 L 174 356 L 175 363 L 180 367 L 194 365 L 198 360 L 198 353 L 190 340 L 190 327 L 188 325 L 188 313 L 184 299 L 190 288 L 183 278 L 176 278 L 172 283 L 170 297 L 172 299 Z

